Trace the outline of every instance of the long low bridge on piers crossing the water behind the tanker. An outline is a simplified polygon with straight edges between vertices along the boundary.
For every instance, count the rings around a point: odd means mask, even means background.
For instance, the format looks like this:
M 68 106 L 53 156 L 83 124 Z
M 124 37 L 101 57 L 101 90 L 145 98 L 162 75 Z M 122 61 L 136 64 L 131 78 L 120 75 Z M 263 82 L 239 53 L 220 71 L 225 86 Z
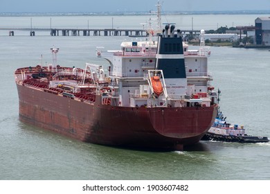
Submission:
M 85 29 L 85 28 L 0 28 L 2 31 L 8 31 L 8 35 L 14 36 L 16 31 L 28 31 L 30 36 L 35 36 L 37 31 L 48 31 L 51 36 L 147 36 L 147 30 L 136 29 L 118 29 L 118 28 L 105 28 L 105 29 Z M 200 30 L 181 30 L 182 33 L 199 34 Z M 81 34 L 82 33 L 82 34 Z

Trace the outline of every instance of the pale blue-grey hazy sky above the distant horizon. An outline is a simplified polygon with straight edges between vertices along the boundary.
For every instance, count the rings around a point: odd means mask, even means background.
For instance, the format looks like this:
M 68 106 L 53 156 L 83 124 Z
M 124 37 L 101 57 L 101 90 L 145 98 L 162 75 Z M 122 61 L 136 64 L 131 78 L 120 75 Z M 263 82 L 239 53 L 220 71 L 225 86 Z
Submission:
M 156 10 L 157 0 L 0 0 L 0 12 L 131 12 Z M 269 10 L 270 0 L 161 0 L 162 10 Z

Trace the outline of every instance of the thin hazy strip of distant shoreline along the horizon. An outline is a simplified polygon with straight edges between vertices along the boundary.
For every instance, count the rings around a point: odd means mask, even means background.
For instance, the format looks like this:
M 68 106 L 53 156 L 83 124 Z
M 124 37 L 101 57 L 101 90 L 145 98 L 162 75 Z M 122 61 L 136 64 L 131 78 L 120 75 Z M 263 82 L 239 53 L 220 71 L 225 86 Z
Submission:
M 270 10 L 163 12 L 163 15 L 270 15 Z M 106 16 L 151 15 L 149 12 L 0 12 L 0 17 L 19 16 Z

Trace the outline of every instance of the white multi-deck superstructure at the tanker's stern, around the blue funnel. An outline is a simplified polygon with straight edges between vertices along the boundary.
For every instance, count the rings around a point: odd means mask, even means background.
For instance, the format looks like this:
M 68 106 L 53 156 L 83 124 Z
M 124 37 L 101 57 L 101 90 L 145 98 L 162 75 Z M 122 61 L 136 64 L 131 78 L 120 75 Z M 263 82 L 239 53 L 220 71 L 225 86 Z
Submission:
M 201 42 L 204 42 L 201 39 Z M 101 48 L 101 47 L 99 47 Z M 98 56 L 109 61 L 109 75 L 111 87 L 114 90 L 114 104 L 119 106 L 210 106 L 215 103 L 213 87 L 210 85 L 212 76 L 208 73 L 208 56 L 210 49 L 204 44 L 197 50 L 188 50 L 183 43 L 183 55 L 156 54 L 158 41 L 154 38 L 140 42 L 123 42 L 120 51 L 109 51 L 110 55 L 98 49 Z M 101 55 L 102 53 L 102 55 Z M 155 69 L 156 60 L 161 58 L 183 58 L 185 62 L 186 78 L 171 79 L 165 76 L 165 87 L 168 96 L 162 94 L 159 98 L 152 98 L 149 84 L 149 71 Z M 164 73 L 164 72 L 163 72 Z M 161 81 L 163 78 L 161 77 Z M 213 95 L 213 96 L 211 96 Z M 213 97 L 213 98 L 212 98 Z M 177 99 L 177 100 L 176 100 Z

